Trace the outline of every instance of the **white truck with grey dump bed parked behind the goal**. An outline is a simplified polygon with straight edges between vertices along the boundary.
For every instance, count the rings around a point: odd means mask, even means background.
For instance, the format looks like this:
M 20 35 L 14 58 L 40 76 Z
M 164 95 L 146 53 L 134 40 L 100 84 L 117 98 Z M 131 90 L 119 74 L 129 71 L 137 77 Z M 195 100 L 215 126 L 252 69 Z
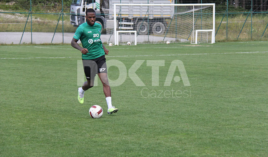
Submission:
M 93 8 L 96 12 L 96 22 L 102 25 L 102 32 L 113 28 L 113 4 L 174 4 L 174 0 L 73 0 L 70 7 L 70 22 L 79 26 L 85 22 L 85 10 Z M 174 15 L 174 6 L 151 7 L 139 9 L 140 6 L 122 6 L 121 14 L 117 16 L 118 30 L 136 30 L 140 35 L 164 34 L 167 22 L 166 19 Z

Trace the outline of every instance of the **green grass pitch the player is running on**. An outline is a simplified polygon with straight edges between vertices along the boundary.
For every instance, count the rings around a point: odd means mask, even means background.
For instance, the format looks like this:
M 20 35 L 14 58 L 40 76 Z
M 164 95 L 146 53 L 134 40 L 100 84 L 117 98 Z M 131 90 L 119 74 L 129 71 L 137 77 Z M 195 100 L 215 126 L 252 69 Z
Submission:
M 0 45 L 0 156 L 266 157 L 267 45 L 107 47 L 107 61 L 127 69 L 122 78 L 121 69 L 108 64 L 112 104 L 119 109 L 112 115 L 99 80 L 79 104 L 78 50 Z M 157 60 L 164 62 L 158 75 L 157 66 L 150 66 Z M 183 63 L 190 86 L 181 67 L 164 85 L 175 60 Z M 136 61 L 142 64 L 135 71 Z M 112 85 L 117 80 L 122 84 Z M 99 119 L 89 116 L 94 104 L 103 107 Z

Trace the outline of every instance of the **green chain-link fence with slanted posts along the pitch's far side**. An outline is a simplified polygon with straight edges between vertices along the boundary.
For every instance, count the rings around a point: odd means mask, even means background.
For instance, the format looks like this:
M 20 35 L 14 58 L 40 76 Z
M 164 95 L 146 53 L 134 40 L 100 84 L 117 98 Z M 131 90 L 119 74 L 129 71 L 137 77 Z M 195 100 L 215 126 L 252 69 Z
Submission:
M 109 41 L 104 10 L 112 0 L 2 0 L 0 44 L 70 43 L 77 25 L 84 22 L 84 7 L 93 7 Z M 135 0 L 132 0 L 132 3 Z M 148 3 L 152 0 L 145 0 Z M 168 0 L 170 1 L 170 0 Z M 171 0 L 174 3 L 215 3 L 215 41 L 267 40 L 268 0 Z M 92 3 L 94 2 L 94 3 Z M 73 4 L 72 4 L 73 3 Z M 79 6 L 79 12 L 72 6 Z M 76 11 L 74 13 L 74 11 Z M 80 16 L 79 16 L 80 15 Z M 81 19 L 80 19 L 81 18 Z M 71 21 L 73 21 L 71 24 Z M 109 19 L 110 20 L 110 19 Z M 107 39 L 106 39 L 107 38 Z

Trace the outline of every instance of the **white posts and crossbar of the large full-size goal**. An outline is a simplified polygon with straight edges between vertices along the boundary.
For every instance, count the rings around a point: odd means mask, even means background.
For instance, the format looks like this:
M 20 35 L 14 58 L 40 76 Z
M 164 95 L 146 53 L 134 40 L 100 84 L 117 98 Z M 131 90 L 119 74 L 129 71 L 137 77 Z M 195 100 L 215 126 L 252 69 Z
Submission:
M 211 30 L 212 32 L 212 38 L 211 43 L 215 43 L 215 3 L 202 3 L 202 4 L 129 4 L 129 3 L 114 3 L 113 4 L 113 22 L 114 22 L 114 44 L 117 44 L 117 13 L 116 13 L 116 7 L 117 6 L 212 6 L 213 7 L 213 28 Z M 193 15 L 194 15 L 194 9 L 193 9 Z M 194 17 L 193 17 L 193 25 L 194 25 Z M 193 30 L 194 32 L 196 30 Z M 202 30 L 198 30 L 202 31 Z M 194 36 L 195 37 L 195 36 Z

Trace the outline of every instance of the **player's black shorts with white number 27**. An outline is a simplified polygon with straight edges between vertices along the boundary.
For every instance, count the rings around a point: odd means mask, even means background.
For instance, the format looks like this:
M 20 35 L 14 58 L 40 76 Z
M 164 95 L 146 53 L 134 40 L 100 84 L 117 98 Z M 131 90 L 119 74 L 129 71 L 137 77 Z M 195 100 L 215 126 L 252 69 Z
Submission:
M 87 80 L 94 78 L 97 73 L 107 73 L 105 55 L 95 59 L 82 59 Z

